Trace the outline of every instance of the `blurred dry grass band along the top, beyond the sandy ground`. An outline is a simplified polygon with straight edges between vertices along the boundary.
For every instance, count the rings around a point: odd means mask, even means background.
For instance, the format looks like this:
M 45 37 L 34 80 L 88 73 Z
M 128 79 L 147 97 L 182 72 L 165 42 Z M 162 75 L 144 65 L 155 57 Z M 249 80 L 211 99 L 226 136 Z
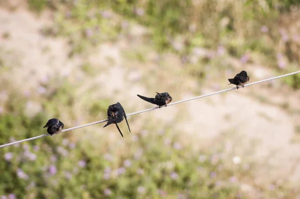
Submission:
M 245 62 L 266 65 L 281 72 L 287 72 L 288 65 L 298 62 L 300 57 L 296 47 L 298 40 L 293 39 L 297 36 L 293 32 L 298 30 L 284 20 L 289 13 L 292 15 L 291 10 L 299 9 L 294 0 L 225 3 L 204 0 L 197 4 L 190 0 L 109 0 L 105 3 L 97 0 L 31 0 L 29 5 L 36 7 L 37 11 L 45 7 L 53 10 L 56 25 L 52 29 L 69 39 L 70 55 L 81 53 L 102 41 L 116 41 L 120 35 L 129 36 L 124 25 L 129 21 L 129 24 L 138 23 L 149 29 L 144 39 L 158 53 L 171 51 L 187 57 L 187 68 L 196 64 L 189 64 L 188 57 L 198 46 L 213 51 L 222 46 L 229 56 L 237 59 L 245 54 L 255 54 L 258 56 Z M 176 49 L 175 43 L 182 44 L 181 49 Z M 278 54 L 282 56 L 278 57 Z M 143 60 L 141 55 L 135 56 Z M 200 63 L 205 64 L 205 60 Z M 212 66 L 218 68 L 217 63 Z M 202 73 L 197 76 L 203 78 Z M 295 77 L 286 83 L 298 89 L 297 81 Z

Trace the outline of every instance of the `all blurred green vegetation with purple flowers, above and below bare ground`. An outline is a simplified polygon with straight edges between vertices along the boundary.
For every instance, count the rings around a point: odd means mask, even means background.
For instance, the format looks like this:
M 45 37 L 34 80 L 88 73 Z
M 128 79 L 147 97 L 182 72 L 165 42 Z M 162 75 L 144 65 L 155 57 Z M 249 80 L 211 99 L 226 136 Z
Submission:
M 221 72 L 230 68 L 227 57 L 238 58 L 243 64 L 263 64 L 281 72 L 289 72 L 289 66 L 300 60 L 296 27 L 292 20 L 286 20 L 293 10 L 300 10 L 297 0 L 197 2 L 28 1 L 29 7 L 38 13 L 44 9 L 54 13 L 54 26 L 45 27 L 42 32 L 66 37 L 72 47 L 70 56 L 88 52 L 102 41 L 129 37 L 127 27 L 141 24 L 149 30 L 143 35 L 143 42 L 161 54 L 177 53 L 185 60 L 182 61 L 184 72 L 200 80 L 210 70 L 208 65 L 218 66 Z M 192 62 L 190 57 L 197 54 L 197 48 L 205 48 L 206 54 L 197 55 L 198 59 Z M 127 56 L 146 62 L 141 52 L 127 52 Z M 85 75 L 94 75 L 95 69 L 89 63 L 80 67 Z M 0 74 L 4 70 L 7 67 L 0 57 Z M 284 81 L 298 89 L 300 76 L 290 76 Z M 73 121 L 80 120 L 74 112 L 79 109 L 76 100 L 86 101 L 80 104 L 87 107 L 83 111 L 88 115 L 84 116 L 86 121 L 104 118 L 111 100 L 104 94 L 101 101 L 91 99 L 92 91 L 76 98 L 75 88 L 79 83 L 82 82 L 55 79 L 41 84 L 40 93 L 32 94 L 41 110 L 29 117 L 28 99 L 20 96 L 20 90 L 9 90 L 3 86 L 8 84 L 1 82 L 0 92 L 5 91 L 9 100 L 0 101 L 0 144 L 40 135 L 46 132 L 42 126 L 49 118 L 59 118 L 63 113 L 68 118 L 65 126 L 73 126 Z M 122 144 L 116 140 L 109 143 L 111 140 L 103 135 L 96 140 L 93 136 L 85 140 L 80 139 L 79 132 L 77 141 L 72 136 L 64 133 L 0 149 L 0 196 L 10 196 L 9 199 L 13 196 L 17 199 L 241 199 L 258 192 L 263 193 L 263 198 L 296 197 L 288 184 L 256 185 L 255 165 L 250 161 L 242 164 L 228 161 L 232 157 L 224 152 L 223 143 L 216 141 L 211 150 L 194 150 L 181 143 L 175 129 L 158 131 L 153 122 L 143 124 L 143 130 L 127 134 Z M 242 190 L 242 185 L 250 187 L 250 191 Z

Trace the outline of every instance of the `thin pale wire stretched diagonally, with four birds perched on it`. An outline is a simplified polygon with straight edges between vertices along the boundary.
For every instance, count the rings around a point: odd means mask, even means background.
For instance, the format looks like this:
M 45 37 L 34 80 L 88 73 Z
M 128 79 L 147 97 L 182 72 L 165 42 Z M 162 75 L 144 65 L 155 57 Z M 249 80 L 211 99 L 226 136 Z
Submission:
M 249 84 L 245 84 L 244 87 L 246 87 L 246 86 L 252 86 L 254 84 L 259 84 L 259 83 L 266 82 L 266 81 L 271 81 L 271 80 L 274 80 L 274 79 L 279 79 L 279 78 L 286 77 L 286 76 L 289 76 L 289 75 L 294 75 L 294 74 L 297 74 L 297 73 L 300 73 L 300 71 L 296 71 L 296 72 L 288 73 L 288 74 L 285 74 L 285 75 L 280 75 L 280 76 L 277 76 L 277 77 L 271 77 L 271 78 L 268 78 L 268 79 L 256 81 L 256 82 L 249 83 Z M 219 94 L 219 93 L 224 93 L 224 92 L 227 92 L 227 91 L 230 91 L 230 90 L 234 90 L 234 89 L 236 89 L 236 87 L 228 88 L 228 89 L 225 89 L 225 90 L 221 90 L 221 91 L 217 91 L 217 92 L 214 92 L 214 93 L 209 93 L 209 94 L 206 94 L 206 95 L 201 95 L 201 96 L 197 96 L 197 97 L 193 97 L 193 98 L 189 98 L 189 99 L 185 99 L 185 100 L 181 100 L 181 101 L 177 101 L 177 102 L 173 102 L 173 103 L 169 103 L 167 106 L 172 106 L 172 105 L 179 104 L 179 103 L 182 103 L 182 102 L 187 102 L 187 101 L 191 101 L 191 100 L 195 100 L 195 99 L 199 99 L 199 98 L 203 98 L 203 97 L 208 97 L 208 96 L 211 96 L 211 95 L 216 95 L 216 94 Z M 131 116 L 131 115 L 136 115 L 136 114 L 140 114 L 140 113 L 152 111 L 152 110 L 155 110 L 155 109 L 158 109 L 158 108 L 159 107 L 156 106 L 154 108 L 149 108 L 149 109 L 146 109 L 146 110 L 142 110 L 142 111 L 137 111 L 137 112 L 134 112 L 134 113 L 126 114 L 126 116 L 128 117 L 128 116 Z M 103 123 L 103 122 L 106 122 L 106 121 L 107 121 L 107 119 L 106 120 L 100 120 L 100 121 L 97 121 L 97 122 L 92 122 L 92 123 L 88 123 L 88 124 L 84 124 L 84 125 L 80 125 L 80 126 L 76 126 L 76 127 L 64 129 L 61 132 L 71 131 L 71 130 L 75 130 L 75 129 L 79 129 L 79 128 L 83 128 L 83 127 L 87 127 L 87 126 L 91 126 L 91 125 Z M 7 146 L 10 146 L 10 145 L 19 144 L 19 143 L 30 141 L 30 140 L 35 140 L 35 139 L 46 137 L 46 136 L 49 136 L 49 134 L 35 136 L 35 137 L 32 137 L 32 138 L 28 138 L 28 139 L 19 140 L 19 141 L 16 141 L 16 142 L 11 142 L 11 143 L 8 143 L 8 144 L 0 145 L 0 148 L 7 147 Z

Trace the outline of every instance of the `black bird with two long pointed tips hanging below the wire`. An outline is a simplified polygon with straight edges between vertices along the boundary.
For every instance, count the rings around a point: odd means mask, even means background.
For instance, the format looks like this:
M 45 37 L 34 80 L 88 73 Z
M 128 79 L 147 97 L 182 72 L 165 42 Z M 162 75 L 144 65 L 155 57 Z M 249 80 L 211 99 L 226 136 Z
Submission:
M 121 121 L 123 121 L 123 118 L 125 118 L 129 132 L 131 133 L 127 121 L 126 113 L 120 103 L 117 102 L 116 104 L 109 105 L 107 109 L 107 116 L 108 116 L 107 124 L 105 124 L 103 127 L 106 127 L 110 124 L 115 124 L 117 130 L 120 132 L 121 136 L 123 137 L 123 134 L 121 133 L 120 129 L 117 126 L 117 123 L 120 123 Z

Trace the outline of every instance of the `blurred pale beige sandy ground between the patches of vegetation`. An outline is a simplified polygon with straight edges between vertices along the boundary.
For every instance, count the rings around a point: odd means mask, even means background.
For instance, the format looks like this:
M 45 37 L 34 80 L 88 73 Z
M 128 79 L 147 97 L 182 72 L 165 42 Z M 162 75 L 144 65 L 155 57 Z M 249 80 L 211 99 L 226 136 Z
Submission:
M 9 67 L 9 70 L 0 76 L 13 80 L 11 83 L 16 88 L 21 88 L 20 90 L 28 89 L 36 92 L 39 82 L 57 75 L 72 76 L 74 79 L 85 78 L 79 67 L 82 59 L 76 56 L 68 58 L 69 49 L 66 40 L 44 37 L 40 34 L 40 28 L 51 23 L 47 18 L 47 16 L 37 18 L 24 9 L 14 12 L 0 9 L 0 35 L 9 33 L 8 38 L 0 36 L 1 57 Z M 127 42 L 104 43 L 90 54 L 88 59 L 92 65 L 101 64 L 105 68 L 110 64 L 109 69 L 106 68 L 99 75 L 88 77 L 86 81 L 89 83 L 86 82 L 77 89 L 78 95 L 97 86 L 99 89 L 93 92 L 92 99 L 103 96 L 103 93 L 107 97 L 117 93 L 118 96 L 127 96 L 132 99 L 126 102 L 129 107 L 127 113 L 152 107 L 146 103 L 137 103 L 140 101 L 136 94 L 146 95 L 148 92 L 140 81 L 140 78 L 147 77 L 148 74 L 144 74 L 142 68 L 128 70 L 124 67 L 124 63 L 128 63 L 121 53 L 124 48 L 130 49 Z M 107 57 L 113 59 L 113 63 L 107 61 Z M 174 63 L 177 62 L 179 61 L 174 60 Z M 261 67 L 248 68 L 258 79 L 264 76 L 274 76 L 271 73 L 266 74 Z M 105 83 L 109 79 L 114 79 L 114 83 Z M 251 78 L 252 81 L 253 79 L 255 78 Z M 237 133 L 239 136 L 233 138 L 231 144 L 243 143 L 235 150 L 236 155 L 242 157 L 241 161 L 243 161 L 243 152 L 249 149 L 251 151 L 251 143 L 254 141 L 257 144 L 256 149 L 251 152 L 251 158 L 261 165 L 257 170 L 258 181 L 284 179 L 298 183 L 300 181 L 300 165 L 298 164 L 300 145 L 291 142 L 295 134 L 294 126 L 298 121 L 295 117 L 298 115 L 291 115 L 279 106 L 262 103 L 259 99 L 251 97 L 254 92 L 265 96 L 270 101 L 283 100 L 288 91 L 280 92 L 280 88 L 272 91 L 259 90 L 259 87 L 262 86 L 255 85 L 211 96 L 209 99 L 199 99 L 144 113 L 134 123 L 141 126 L 143 119 L 152 116 L 170 123 L 180 115 L 182 110 L 185 110 L 181 120 L 174 125 L 174 129 L 193 138 L 190 139 L 191 143 L 195 145 L 204 143 L 222 132 Z M 202 89 L 202 93 L 213 91 L 216 90 Z M 270 92 L 272 92 L 271 95 Z M 295 102 L 298 99 L 297 96 L 292 95 L 291 92 L 288 94 L 291 96 L 288 100 L 293 99 L 293 101 L 287 102 L 298 108 Z M 182 91 L 177 93 L 177 96 L 183 99 L 193 95 Z

